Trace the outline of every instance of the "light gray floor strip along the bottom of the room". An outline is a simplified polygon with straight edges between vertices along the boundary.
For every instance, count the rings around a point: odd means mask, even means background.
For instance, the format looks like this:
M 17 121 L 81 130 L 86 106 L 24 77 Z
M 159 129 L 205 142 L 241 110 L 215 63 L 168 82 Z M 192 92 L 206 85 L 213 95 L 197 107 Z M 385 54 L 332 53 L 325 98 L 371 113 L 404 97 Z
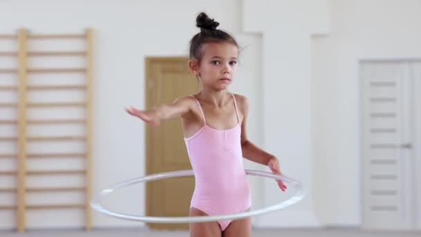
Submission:
M 17 234 L 12 231 L 0 231 L 1 237 L 181 237 L 189 236 L 188 231 L 150 231 L 148 229 L 94 229 L 87 233 L 79 230 L 36 230 L 28 231 L 25 234 Z M 259 237 L 380 237 L 380 236 L 399 236 L 399 237 L 420 237 L 421 232 L 396 232 L 396 231 L 361 231 L 359 229 L 253 229 L 253 236 Z M 240 236 L 241 237 L 241 236 Z

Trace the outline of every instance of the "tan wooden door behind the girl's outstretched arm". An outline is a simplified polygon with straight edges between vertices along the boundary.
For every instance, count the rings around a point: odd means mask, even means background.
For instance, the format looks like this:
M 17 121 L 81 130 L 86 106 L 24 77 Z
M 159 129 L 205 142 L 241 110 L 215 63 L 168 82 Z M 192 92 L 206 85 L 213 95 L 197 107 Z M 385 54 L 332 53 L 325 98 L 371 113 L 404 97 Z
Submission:
M 199 83 L 188 70 L 188 58 L 146 58 L 146 108 L 170 104 L 195 94 Z M 181 119 L 158 127 L 146 125 L 146 173 L 191 169 L 183 140 Z M 162 179 L 146 184 L 147 216 L 188 216 L 194 177 Z M 188 224 L 148 224 L 153 229 L 188 229 Z

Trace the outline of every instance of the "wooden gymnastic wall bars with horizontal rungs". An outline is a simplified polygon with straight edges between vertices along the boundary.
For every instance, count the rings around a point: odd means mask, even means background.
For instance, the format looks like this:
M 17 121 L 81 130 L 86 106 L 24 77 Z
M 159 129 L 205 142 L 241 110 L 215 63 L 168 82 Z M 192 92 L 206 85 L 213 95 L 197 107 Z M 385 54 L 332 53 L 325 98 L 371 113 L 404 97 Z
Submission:
M 16 170 L 4 170 L 0 167 L 1 176 L 17 177 L 15 187 L 0 187 L 1 193 L 16 193 L 17 200 L 15 204 L 0 204 L 0 211 L 16 210 L 16 228 L 18 232 L 26 230 L 26 211 L 30 209 L 84 209 L 84 228 L 89 231 L 91 229 L 91 208 L 89 201 L 91 198 L 91 139 L 92 139 L 92 35 L 93 30 L 88 28 L 83 34 L 32 34 L 28 33 L 25 28 L 19 29 L 15 35 L 0 35 L 0 40 L 17 40 L 17 51 L 0 52 L 0 57 L 17 57 L 17 68 L 1 68 L 0 65 L 0 93 L 1 91 L 17 91 L 19 101 L 17 103 L 4 102 L 0 100 L 0 109 L 9 108 L 17 109 L 16 119 L 1 119 L 0 125 L 17 127 L 17 135 L 3 136 L 0 134 L 0 143 L 15 143 L 17 152 L 5 153 L 0 149 L 0 159 L 15 159 L 17 163 Z M 28 42 L 39 40 L 62 40 L 62 39 L 80 39 L 84 41 L 86 50 L 84 51 L 36 51 L 36 49 L 28 49 Z M 37 57 L 84 57 L 85 66 L 81 68 L 36 68 L 28 64 L 28 58 Z M 17 85 L 1 85 L 1 74 L 8 73 L 16 75 L 19 78 Z M 84 73 L 86 82 L 84 85 L 30 85 L 28 76 L 39 73 Z M 31 103 L 28 101 L 28 93 L 31 91 L 54 91 L 54 90 L 80 90 L 86 95 L 82 102 L 40 102 Z M 51 107 L 81 107 L 84 109 L 85 117 L 83 119 L 30 119 L 28 118 L 28 109 L 33 108 L 51 108 Z M 0 114 L 1 115 L 1 114 Z M 36 125 L 69 125 L 81 124 L 84 126 L 85 134 L 83 136 L 68 136 L 62 134 L 60 136 L 31 136 L 28 134 L 28 126 Z M 1 132 L 1 130 L 0 130 Z M 49 152 L 35 153 L 27 152 L 28 143 L 42 141 L 81 141 L 84 144 L 84 152 Z M 1 147 L 0 147 L 1 148 Z M 3 149 L 4 150 L 4 149 Z M 66 157 L 70 159 L 84 159 L 84 168 L 82 169 L 63 169 L 48 168 L 46 170 L 30 170 L 27 168 L 29 159 L 61 159 Z M 64 162 L 64 161 L 63 161 Z M 49 162 L 48 162 L 49 163 Z M 27 179 L 33 175 L 84 175 L 84 186 L 55 186 L 55 187 L 30 187 Z M 27 194 L 29 193 L 60 193 L 60 192 L 82 192 L 84 193 L 83 203 L 71 204 L 30 204 L 27 203 Z

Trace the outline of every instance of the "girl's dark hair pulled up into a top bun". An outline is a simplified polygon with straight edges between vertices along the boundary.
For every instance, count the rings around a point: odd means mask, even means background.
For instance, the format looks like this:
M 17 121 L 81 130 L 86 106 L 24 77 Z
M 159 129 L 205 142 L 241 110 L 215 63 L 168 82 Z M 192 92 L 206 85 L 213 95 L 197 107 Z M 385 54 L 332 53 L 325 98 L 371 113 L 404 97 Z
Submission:
M 190 40 L 190 59 L 200 61 L 203 55 L 203 46 L 208 43 L 229 43 L 238 47 L 234 37 L 224 30 L 218 30 L 220 23 L 209 18 L 205 12 L 200 12 L 196 18 L 196 26 L 200 32 Z

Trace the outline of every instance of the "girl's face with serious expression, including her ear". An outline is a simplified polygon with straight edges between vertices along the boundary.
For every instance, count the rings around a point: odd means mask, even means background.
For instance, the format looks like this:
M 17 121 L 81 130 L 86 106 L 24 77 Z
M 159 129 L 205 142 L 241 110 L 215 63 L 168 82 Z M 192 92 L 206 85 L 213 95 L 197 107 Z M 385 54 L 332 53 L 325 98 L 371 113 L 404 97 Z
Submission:
M 229 43 L 208 43 L 203 46 L 199 64 L 189 62 L 190 69 L 199 76 L 202 88 L 227 89 L 237 67 L 238 48 Z

